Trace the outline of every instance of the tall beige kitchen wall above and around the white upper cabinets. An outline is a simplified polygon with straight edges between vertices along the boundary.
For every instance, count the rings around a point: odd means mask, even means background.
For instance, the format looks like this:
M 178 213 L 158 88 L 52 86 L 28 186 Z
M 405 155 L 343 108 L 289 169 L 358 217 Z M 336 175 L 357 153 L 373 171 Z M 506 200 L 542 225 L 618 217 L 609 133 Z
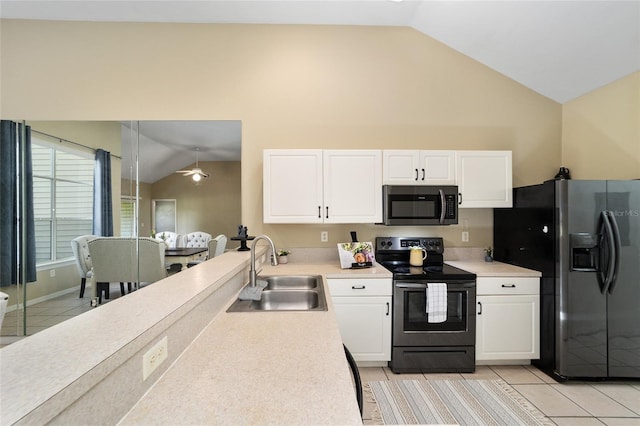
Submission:
M 280 246 L 356 230 L 491 244 L 460 226 L 265 226 L 264 148 L 508 149 L 514 184 L 561 164 L 561 105 L 411 28 L 3 21 L 5 118 L 242 120 L 242 223 Z M 330 242 L 319 243 L 328 230 Z

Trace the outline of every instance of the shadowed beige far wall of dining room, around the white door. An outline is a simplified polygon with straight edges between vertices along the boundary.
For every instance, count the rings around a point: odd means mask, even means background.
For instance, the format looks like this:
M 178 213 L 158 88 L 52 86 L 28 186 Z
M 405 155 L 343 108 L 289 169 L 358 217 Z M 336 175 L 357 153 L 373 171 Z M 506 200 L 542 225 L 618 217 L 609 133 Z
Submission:
M 184 169 L 193 167 L 195 164 Z M 214 237 L 235 236 L 242 221 L 240 162 L 201 161 L 199 167 L 211 176 L 196 185 L 190 177 L 169 175 L 151 185 L 151 198 L 176 200 L 179 234 L 202 231 Z

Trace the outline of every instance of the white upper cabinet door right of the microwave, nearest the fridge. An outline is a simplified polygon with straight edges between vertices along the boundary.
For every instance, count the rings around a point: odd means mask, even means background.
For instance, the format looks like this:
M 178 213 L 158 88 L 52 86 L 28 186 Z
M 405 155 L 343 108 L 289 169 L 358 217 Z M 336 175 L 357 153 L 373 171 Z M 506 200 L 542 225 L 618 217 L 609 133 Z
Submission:
M 457 151 L 461 208 L 512 207 L 511 151 Z

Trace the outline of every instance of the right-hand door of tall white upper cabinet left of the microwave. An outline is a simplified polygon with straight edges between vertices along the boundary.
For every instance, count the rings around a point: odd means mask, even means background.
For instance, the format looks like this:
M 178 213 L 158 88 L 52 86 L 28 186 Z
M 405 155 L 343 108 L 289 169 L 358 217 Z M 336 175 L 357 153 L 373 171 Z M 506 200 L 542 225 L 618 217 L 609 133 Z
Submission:
M 382 222 L 382 151 L 324 151 L 325 223 Z

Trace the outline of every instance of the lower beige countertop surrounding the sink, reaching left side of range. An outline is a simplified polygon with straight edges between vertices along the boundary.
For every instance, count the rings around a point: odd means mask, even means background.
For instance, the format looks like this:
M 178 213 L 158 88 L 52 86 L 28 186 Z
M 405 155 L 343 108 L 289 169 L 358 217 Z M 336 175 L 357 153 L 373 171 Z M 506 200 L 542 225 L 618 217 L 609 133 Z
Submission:
M 391 278 L 334 263 L 260 275 L 275 274 Z M 325 312 L 221 312 L 122 424 L 361 424 L 326 285 L 325 294 Z

